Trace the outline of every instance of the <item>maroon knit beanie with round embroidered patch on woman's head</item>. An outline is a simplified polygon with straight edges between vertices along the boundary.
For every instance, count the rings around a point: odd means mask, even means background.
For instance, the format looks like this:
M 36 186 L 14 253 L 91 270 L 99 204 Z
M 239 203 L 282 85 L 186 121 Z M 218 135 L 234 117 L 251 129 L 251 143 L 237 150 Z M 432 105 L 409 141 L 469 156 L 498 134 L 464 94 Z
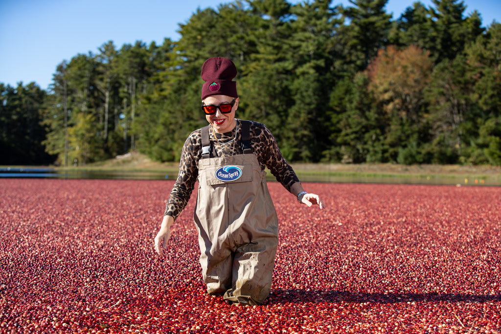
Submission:
M 232 61 L 223 57 L 209 58 L 202 65 L 201 77 L 205 83 L 202 86 L 202 100 L 210 95 L 227 95 L 237 98 L 236 67 Z

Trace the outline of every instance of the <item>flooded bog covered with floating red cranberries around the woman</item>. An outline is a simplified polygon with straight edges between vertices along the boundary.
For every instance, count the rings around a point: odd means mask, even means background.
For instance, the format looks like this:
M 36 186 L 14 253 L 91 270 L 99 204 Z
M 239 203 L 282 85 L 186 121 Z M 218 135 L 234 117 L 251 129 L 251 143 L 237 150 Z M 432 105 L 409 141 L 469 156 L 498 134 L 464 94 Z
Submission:
M 501 332 L 501 188 L 270 182 L 270 297 L 205 293 L 194 197 L 153 250 L 170 180 L 0 179 L 1 333 Z

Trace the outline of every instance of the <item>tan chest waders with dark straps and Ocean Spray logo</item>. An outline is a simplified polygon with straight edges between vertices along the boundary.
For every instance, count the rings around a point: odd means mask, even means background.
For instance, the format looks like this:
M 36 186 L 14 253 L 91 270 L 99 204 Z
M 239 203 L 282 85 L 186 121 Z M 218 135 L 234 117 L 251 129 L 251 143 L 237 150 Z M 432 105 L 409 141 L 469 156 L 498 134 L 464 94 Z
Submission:
M 270 293 L 278 218 L 266 172 L 252 151 L 249 122 L 241 125 L 243 154 L 228 157 L 211 157 L 210 125 L 202 128 L 193 219 L 207 292 L 256 305 Z

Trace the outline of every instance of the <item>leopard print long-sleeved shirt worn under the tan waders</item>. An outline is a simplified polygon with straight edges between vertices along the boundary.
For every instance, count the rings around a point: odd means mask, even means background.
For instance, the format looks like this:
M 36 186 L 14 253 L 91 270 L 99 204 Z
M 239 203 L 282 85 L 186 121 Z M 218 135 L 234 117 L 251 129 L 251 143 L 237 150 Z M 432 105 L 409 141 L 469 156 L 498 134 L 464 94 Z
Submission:
M 243 154 L 241 147 L 241 120 L 235 120 L 237 126 L 230 132 L 219 134 L 209 131 L 209 139 L 213 144 L 214 156 Z M 233 145 L 235 131 L 238 131 L 238 133 L 236 135 L 236 142 Z M 220 146 L 214 138 L 214 134 Z M 282 156 L 275 137 L 273 137 L 270 130 L 264 124 L 251 121 L 250 138 L 253 152 L 258 158 L 261 170 L 265 170 L 268 167 L 277 181 L 288 191 L 291 191 L 292 185 L 299 182 L 299 179 L 291 165 Z M 176 219 L 188 203 L 198 177 L 198 160 L 201 159 L 201 156 L 201 130 L 198 129 L 193 131 L 184 142 L 181 161 L 179 163 L 179 174 L 170 192 L 164 215 L 169 215 Z

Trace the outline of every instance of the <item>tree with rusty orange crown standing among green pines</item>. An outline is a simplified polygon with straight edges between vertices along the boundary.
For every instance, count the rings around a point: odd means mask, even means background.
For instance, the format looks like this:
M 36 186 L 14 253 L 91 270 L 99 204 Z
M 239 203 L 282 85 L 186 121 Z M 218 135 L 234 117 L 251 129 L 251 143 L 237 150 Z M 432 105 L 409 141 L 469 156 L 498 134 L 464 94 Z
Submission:
M 390 119 L 391 131 L 386 138 L 389 160 L 401 163 L 424 160 L 419 151 L 427 132 L 423 114 L 427 104 L 425 90 L 432 71 L 429 52 L 416 46 L 402 50 L 389 46 L 380 50 L 367 67 L 369 90 Z

